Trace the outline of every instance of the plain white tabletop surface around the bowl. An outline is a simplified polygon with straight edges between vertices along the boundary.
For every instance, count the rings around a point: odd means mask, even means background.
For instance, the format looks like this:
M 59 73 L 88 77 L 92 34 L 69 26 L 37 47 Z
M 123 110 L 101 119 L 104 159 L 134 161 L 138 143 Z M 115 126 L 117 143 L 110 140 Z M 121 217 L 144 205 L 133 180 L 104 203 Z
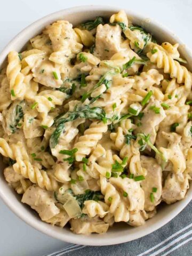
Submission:
M 13 36 L 44 15 L 89 4 L 114 5 L 142 13 L 167 26 L 192 48 L 192 0 L 4 0 L 0 9 L 0 51 Z M 66 245 L 29 227 L 0 199 L 0 255 L 42 256 Z

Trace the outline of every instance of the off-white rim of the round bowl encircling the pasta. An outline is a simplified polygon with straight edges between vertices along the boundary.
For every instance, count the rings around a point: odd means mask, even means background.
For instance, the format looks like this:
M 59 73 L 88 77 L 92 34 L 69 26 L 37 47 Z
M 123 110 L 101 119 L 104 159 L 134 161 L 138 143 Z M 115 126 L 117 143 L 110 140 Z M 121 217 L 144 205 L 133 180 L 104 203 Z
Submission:
M 115 12 L 118 12 L 119 10 L 122 10 L 122 8 L 115 7 L 115 6 L 108 6 L 108 5 L 81 5 L 81 6 L 74 6 L 74 7 L 63 9 L 63 10 L 60 10 L 57 12 L 53 12 L 51 14 L 47 14 L 43 18 L 40 18 L 40 19 L 36 20 L 35 22 L 31 23 L 29 26 L 24 28 L 19 34 L 14 36 L 13 39 L 4 47 L 4 49 L 0 53 L 0 60 L 4 60 L 6 58 L 6 55 L 10 49 L 10 46 L 12 44 L 14 44 L 16 41 L 18 41 L 23 35 L 25 35 L 25 33 L 28 30 L 39 26 L 39 23 L 43 24 L 45 22 L 49 22 L 49 21 L 51 22 L 52 18 L 57 17 L 60 14 L 65 16 L 65 14 L 70 14 L 73 12 L 81 13 L 81 12 L 86 12 L 86 11 L 108 11 L 108 12 L 115 13 Z M 139 20 L 147 19 L 147 17 L 145 17 L 142 14 L 139 14 L 138 12 L 130 11 L 128 9 L 124 9 L 124 10 L 125 10 L 126 14 L 130 15 L 131 17 L 137 18 Z M 165 31 L 166 34 L 169 33 L 175 42 L 178 42 L 180 45 L 181 44 L 183 45 L 183 42 L 181 41 L 181 39 L 178 36 L 176 36 L 174 33 L 172 33 L 172 31 L 170 29 L 167 29 L 165 26 L 163 26 L 161 23 L 155 21 L 154 19 L 150 19 L 150 23 L 152 23 L 153 26 L 161 29 L 162 31 Z M 192 54 L 190 52 L 190 49 L 187 46 L 185 46 L 185 51 L 187 52 L 190 59 L 192 60 Z M 191 68 L 192 68 L 192 66 L 191 66 Z M 0 182 L 2 182 L 1 179 L 0 179 Z M 29 226 L 35 228 L 36 230 L 41 231 L 45 235 L 49 235 L 53 238 L 57 238 L 57 239 L 60 239 L 62 241 L 68 242 L 68 243 L 75 243 L 75 244 L 81 244 L 81 245 L 92 245 L 92 246 L 95 246 L 95 245 L 102 246 L 102 245 L 113 245 L 113 244 L 120 244 L 120 243 L 124 243 L 124 242 L 128 242 L 128 241 L 132 241 L 132 240 L 138 239 L 140 237 L 146 236 L 146 235 L 152 233 L 153 231 L 161 228 L 167 222 L 171 221 L 177 214 L 179 214 L 184 209 L 184 207 L 187 206 L 187 204 L 192 199 L 192 190 L 188 191 L 186 197 L 182 200 L 182 202 L 180 201 L 179 206 L 176 207 L 173 211 L 171 211 L 168 215 L 166 215 L 166 217 L 161 219 L 161 221 L 158 220 L 158 222 L 156 224 L 151 225 L 150 227 L 147 227 L 147 229 L 143 228 L 143 230 L 140 230 L 137 234 L 134 234 L 133 237 L 129 237 L 128 239 L 127 239 L 127 236 L 118 237 L 118 239 L 117 238 L 102 239 L 102 236 L 100 236 L 100 235 L 99 236 L 97 235 L 97 237 L 99 239 L 95 239 L 95 236 L 93 237 L 92 235 L 90 235 L 90 236 L 80 235 L 79 236 L 79 235 L 75 235 L 73 233 L 71 233 L 71 235 L 65 234 L 65 230 L 63 230 L 63 234 L 61 237 L 61 235 L 58 233 L 57 230 L 53 230 L 51 228 L 46 228 L 44 225 L 41 226 L 41 225 L 39 225 L 38 221 L 35 220 L 35 218 L 29 219 L 28 216 L 23 214 L 20 207 L 15 207 L 13 202 L 11 201 L 11 198 L 9 198 L 9 196 L 7 196 L 5 193 L 3 193 L 3 189 L 1 186 L 0 186 L 0 197 L 3 199 L 4 203 L 10 208 L 10 210 L 12 212 L 14 212 L 21 220 L 25 221 Z M 49 224 L 46 224 L 46 225 L 49 225 Z

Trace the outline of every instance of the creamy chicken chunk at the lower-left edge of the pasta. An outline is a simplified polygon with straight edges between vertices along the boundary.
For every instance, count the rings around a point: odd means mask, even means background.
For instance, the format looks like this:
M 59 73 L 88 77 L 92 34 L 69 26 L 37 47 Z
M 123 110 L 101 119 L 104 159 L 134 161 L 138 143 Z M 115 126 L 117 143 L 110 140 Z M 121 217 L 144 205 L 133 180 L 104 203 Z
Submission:
M 60 212 L 54 204 L 52 193 L 36 185 L 30 186 L 26 190 L 21 202 L 36 210 L 42 220 L 49 220 Z

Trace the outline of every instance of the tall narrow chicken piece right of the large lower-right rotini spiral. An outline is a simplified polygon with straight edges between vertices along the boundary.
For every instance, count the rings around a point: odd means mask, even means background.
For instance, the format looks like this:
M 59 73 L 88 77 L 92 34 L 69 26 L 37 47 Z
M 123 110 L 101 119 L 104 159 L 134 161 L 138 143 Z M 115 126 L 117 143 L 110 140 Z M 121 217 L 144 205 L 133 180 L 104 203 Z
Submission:
M 161 202 L 162 194 L 162 169 L 153 157 L 141 156 L 141 166 L 147 170 L 145 180 L 141 181 L 141 187 L 145 193 L 146 211 L 153 211 L 155 206 Z M 153 193 L 156 188 L 156 193 Z M 153 193 L 154 201 L 151 202 L 150 194 Z

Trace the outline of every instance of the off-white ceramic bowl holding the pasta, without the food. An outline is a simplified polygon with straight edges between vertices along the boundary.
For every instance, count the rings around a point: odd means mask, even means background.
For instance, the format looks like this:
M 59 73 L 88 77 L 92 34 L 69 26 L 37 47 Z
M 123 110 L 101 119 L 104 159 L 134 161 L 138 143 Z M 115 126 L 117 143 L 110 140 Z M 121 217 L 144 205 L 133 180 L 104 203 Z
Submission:
M 25 46 L 28 40 L 31 37 L 34 37 L 38 33 L 41 33 L 42 29 L 50 25 L 50 23 L 65 19 L 73 23 L 76 26 L 78 23 L 81 23 L 85 20 L 93 19 L 98 15 L 102 17 L 110 17 L 111 14 L 118 12 L 119 9 L 109 6 L 81 6 L 73 7 L 66 10 L 61 10 L 59 12 L 52 13 L 46 17 L 37 20 L 31 24 L 26 29 L 22 30 L 13 40 L 5 47 L 3 52 L 0 54 L 0 65 L 6 59 L 7 54 L 11 50 L 21 51 Z M 137 25 L 141 25 L 152 33 L 159 42 L 168 41 L 170 43 L 180 43 L 180 53 L 183 58 L 187 59 L 189 63 L 189 68 L 192 69 L 192 54 L 189 49 L 180 41 L 180 39 L 167 30 L 165 27 L 162 27 L 157 22 L 152 21 L 142 15 L 135 14 L 131 11 L 126 11 L 129 19 Z M 59 228 L 52 227 L 51 225 L 40 220 L 38 215 L 30 210 L 25 204 L 22 204 L 20 196 L 15 193 L 9 186 L 3 176 L 3 163 L 1 164 L 1 178 L 0 178 L 0 196 L 3 201 L 10 209 L 17 214 L 22 220 L 28 223 L 30 226 L 36 228 L 39 231 L 42 231 L 46 235 L 52 236 L 54 238 L 61 239 L 62 241 L 75 243 L 75 244 L 84 244 L 84 245 L 110 245 L 124 243 L 127 241 L 132 241 L 139 237 L 145 236 L 154 230 L 162 227 L 167 222 L 175 217 L 191 200 L 192 198 L 192 186 L 190 186 L 189 191 L 187 192 L 186 197 L 175 204 L 172 205 L 162 205 L 158 209 L 157 214 L 154 218 L 148 220 L 144 226 L 133 228 L 128 225 L 115 225 L 115 227 L 109 229 L 106 234 L 97 235 L 76 235 L 73 234 L 69 228 Z

